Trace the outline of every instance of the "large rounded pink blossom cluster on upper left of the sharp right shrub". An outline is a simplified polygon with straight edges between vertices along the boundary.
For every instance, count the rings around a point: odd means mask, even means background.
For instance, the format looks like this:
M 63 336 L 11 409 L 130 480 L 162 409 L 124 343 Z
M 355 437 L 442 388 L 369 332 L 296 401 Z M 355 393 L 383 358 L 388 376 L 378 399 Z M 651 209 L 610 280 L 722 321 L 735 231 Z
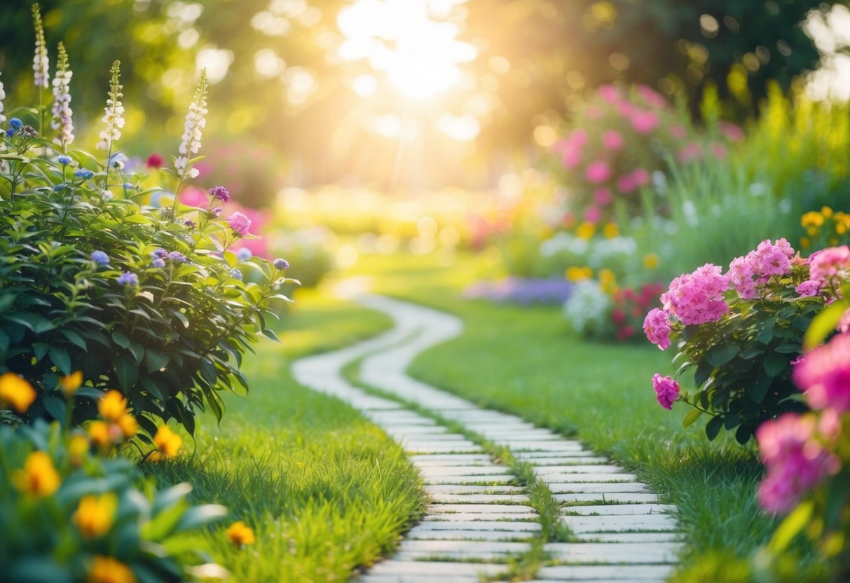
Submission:
M 721 274 L 718 265 L 706 263 L 694 273 L 683 274 L 670 282 L 670 289 L 661 294 L 667 314 L 676 316 L 684 325 L 705 324 L 728 313 L 723 299 L 729 278 Z

